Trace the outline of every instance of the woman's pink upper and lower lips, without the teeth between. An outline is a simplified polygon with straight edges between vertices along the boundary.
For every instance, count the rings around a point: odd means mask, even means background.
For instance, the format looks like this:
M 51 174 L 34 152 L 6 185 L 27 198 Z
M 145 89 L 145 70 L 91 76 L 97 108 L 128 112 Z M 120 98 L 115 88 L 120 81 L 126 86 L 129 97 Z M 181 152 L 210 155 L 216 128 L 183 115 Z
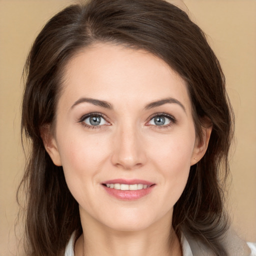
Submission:
M 120 183 L 120 184 L 144 184 L 148 185 L 149 187 L 139 189 L 139 190 L 118 190 L 114 188 L 109 188 L 105 186 L 105 184 L 110 183 Z M 120 200 L 137 200 L 147 194 L 149 194 L 152 189 L 155 186 L 155 183 L 152 183 L 147 180 L 143 179 L 110 179 L 110 180 L 105 180 L 104 182 L 101 183 L 102 187 L 105 189 L 105 191 L 110 195 L 113 196 L 117 199 Z

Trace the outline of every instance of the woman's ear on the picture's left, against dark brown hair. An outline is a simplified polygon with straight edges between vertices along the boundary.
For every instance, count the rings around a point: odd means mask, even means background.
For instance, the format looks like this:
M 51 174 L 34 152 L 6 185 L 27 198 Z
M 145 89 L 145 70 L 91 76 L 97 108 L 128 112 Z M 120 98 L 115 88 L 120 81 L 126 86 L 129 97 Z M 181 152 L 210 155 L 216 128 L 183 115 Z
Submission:
M 52 135 L 50 125 L 44 125 L 40 128 L 40 136 L 44 145 L 45 150 L 49 154 L 53 163 L 57 166 L 61 166 L 61 158 L 58 152 L 56 140 Z

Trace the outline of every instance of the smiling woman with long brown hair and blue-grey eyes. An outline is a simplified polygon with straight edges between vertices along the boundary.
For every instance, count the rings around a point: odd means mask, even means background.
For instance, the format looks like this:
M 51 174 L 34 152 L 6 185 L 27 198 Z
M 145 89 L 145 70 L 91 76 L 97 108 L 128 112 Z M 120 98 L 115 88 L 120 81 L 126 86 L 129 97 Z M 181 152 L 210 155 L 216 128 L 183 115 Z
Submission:
M 69 6 L 39 33 L 25 72 L 27 255 L 250 254 L 223 209 L 224 76 L 182 10 Z

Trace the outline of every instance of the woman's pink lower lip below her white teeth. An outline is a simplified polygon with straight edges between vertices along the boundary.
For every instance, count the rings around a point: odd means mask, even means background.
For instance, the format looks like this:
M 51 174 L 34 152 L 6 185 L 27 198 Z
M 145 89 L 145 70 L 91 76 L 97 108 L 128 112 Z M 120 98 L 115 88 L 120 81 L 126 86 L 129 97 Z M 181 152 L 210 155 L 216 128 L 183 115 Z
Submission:
M 114 188 L 109 188 L 107 186 L 102 185 L 105 191 L 110 194 L 111 196 L 116 197 L 117 199 L 121 200 L 137 200 L 147 194 L 149 194 L 154 185 L 151 185 L 147 188 L 138 189 L 138 190 L 119 190 Z

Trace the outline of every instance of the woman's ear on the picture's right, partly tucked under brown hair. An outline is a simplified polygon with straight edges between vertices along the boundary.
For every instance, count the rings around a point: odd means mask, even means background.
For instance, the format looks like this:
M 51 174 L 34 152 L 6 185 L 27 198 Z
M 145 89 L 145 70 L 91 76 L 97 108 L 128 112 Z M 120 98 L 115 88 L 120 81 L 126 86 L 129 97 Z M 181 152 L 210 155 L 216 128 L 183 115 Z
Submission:
M 206 152 L 209 139 L 210 139 L 210 133 L 212 130 L 212 124 L 210 120 L 205 121 L 201 129 L 202 129 L 202 138 L 195 139 L 193 153 L 190 160 L 190 165 L 197 163 Z

